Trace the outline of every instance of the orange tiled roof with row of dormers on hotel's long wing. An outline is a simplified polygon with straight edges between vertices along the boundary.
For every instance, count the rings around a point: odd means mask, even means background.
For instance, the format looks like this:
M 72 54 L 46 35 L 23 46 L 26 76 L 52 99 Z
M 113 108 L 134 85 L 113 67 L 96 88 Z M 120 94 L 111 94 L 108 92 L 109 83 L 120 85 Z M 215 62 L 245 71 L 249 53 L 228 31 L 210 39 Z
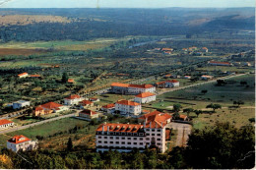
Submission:
M 104 126 L 104 130 L 103 127 Z M 139 130 L 143 129 L 143 125 L 136 124 L 101 124 L 96 129 L 98 132 L 107 131 L 107 127 L 109 127 L 109 132 L 125 132 L 125 133 L 138 133 Z

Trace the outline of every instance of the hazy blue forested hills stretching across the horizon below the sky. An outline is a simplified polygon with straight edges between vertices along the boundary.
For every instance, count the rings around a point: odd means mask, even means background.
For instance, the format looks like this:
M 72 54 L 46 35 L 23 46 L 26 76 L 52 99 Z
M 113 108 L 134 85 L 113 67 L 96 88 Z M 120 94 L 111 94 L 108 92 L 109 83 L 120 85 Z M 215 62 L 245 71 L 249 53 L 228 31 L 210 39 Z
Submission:
M 254 8 L 0 9 L 0 39 L 1 42 L 86 40 L 224 29 L 254 30 L 254 14 Z M 19 17 L 23 20 L 18 22 Z

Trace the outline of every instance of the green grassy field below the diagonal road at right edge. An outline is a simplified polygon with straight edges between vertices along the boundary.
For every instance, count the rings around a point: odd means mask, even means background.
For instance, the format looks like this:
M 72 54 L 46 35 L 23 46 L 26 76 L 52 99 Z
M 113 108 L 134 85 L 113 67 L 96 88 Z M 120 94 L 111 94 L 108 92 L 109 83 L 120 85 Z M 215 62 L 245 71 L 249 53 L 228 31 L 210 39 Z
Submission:
M 177 102 L 187 102 L 196 104 L 196 108 L 204 108 L 209 103 L 220 103 L 223 106 L 230 106 L 233 100 L 241 99 L 244 105 L 254 105 L 254 75 L 245 75 L 238 78 L 232 78 L 228 81 L 230 84 L 225 86 L 216 86 L 216 83 L 208 85 L 198 85 L 182 90 L 171 91 L 158 96 L 159 99 L 169 99 Z M 240 81 L 246 81 L 247 85 L 240 85 Z M 203 94 L 202 90 L 208 90 Z

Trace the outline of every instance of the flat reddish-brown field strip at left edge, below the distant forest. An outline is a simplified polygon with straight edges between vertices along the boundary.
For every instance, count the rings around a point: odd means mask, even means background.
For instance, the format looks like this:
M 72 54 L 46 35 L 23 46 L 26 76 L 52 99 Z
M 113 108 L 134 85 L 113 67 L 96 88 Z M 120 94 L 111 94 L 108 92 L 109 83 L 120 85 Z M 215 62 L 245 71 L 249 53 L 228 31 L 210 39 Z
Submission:
M 5 55 L 32 55 L 45 53 L 45 50 L 42 49 L 22 49 L 22 48 L 0 48 L 0 56 Z

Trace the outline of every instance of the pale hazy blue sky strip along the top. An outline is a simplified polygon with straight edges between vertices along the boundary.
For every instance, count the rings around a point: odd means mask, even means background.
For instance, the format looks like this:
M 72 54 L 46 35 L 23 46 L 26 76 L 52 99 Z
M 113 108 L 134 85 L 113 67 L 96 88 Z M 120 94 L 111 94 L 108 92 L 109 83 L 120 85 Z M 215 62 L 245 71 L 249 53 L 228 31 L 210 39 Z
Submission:
M 0 8 L 229 8 L 255 7 L 255 0 L 0 0 Z

